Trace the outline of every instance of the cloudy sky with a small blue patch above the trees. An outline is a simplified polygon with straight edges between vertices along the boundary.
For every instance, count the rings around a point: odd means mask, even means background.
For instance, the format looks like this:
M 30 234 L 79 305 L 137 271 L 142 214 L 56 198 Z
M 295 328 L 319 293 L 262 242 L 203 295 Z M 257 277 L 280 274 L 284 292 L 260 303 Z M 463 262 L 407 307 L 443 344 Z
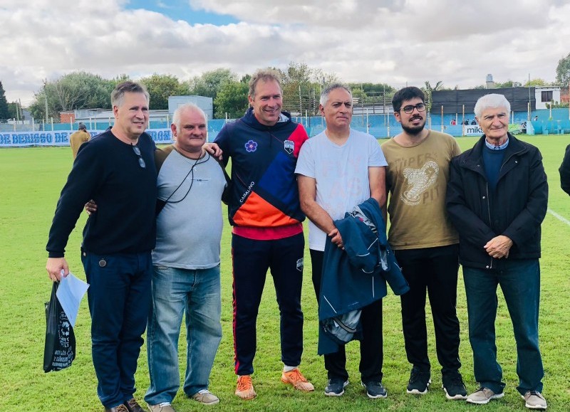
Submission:
M 187 80 L 295 61 L 396 88 L 551 82 L 569 18 L 567 0 L 0 0 L 0 81 L 23 105 L 75 70 Z

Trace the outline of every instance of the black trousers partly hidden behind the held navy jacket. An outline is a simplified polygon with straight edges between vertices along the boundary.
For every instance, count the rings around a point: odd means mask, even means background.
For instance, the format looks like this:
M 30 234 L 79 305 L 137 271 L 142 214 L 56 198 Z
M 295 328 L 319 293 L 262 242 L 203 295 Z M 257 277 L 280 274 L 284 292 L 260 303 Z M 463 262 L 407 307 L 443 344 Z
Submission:
M 316 298 L 321 292 L 321 273 L 323 272 L 324 252 L 310 249 L 311 266 L 313 268 L 313 286 Z M 384 360 L 382 341 L 382 300 L 377 300 L 363 307 L 361 314 L 363 340 L 361 341 L 361 362 L 358 369 L 363 382 L 382 381 L 382 365 Z M 346 352 L 344 347 L 335 354 L 326 354 L 325 369 L 328 379 L 348 379 L 346 371 Z

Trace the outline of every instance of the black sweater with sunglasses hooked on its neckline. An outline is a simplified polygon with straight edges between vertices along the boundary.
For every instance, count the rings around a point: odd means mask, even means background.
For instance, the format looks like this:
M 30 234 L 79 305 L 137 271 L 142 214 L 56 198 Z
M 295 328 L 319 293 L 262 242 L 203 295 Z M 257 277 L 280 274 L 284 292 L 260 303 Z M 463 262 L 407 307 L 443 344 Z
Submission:
M 98 254 L 140 253 L 155 247 L 155 144 L 143 133 L 140 167 L 130 144 L 110 130 L 81 145 L 63 186 L 49 232 L 50 258 L 61 258 L 83 205 L 94 199 L 98 210 L 83 228 L 83 249 Z

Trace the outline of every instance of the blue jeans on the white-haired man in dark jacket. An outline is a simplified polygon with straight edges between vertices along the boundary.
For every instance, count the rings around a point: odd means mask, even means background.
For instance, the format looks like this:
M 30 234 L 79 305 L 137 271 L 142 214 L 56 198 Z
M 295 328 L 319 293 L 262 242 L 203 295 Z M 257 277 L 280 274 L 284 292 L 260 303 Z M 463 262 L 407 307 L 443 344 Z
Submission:
M 500 260 L 496 269 L 463 267 L 467 295 L 469 340 L 473 350 L 475 379 L 480 386 L 501 393 L 502 369 L 497 363 L 494 322 L 497 317 L 497 285 L 501 286 L 517 342 L 517 391 L 542 391 L 542 359 L 539 350 L 540 266 L 538 259 Z

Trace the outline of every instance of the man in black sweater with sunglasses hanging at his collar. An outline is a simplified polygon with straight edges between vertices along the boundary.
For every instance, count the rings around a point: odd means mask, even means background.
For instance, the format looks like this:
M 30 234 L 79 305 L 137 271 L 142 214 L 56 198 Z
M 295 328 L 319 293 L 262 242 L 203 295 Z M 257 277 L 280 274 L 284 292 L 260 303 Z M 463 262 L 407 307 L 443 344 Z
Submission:
M 149 95 L 126 81 L 111 93 L 115 125 L 81 145 L 58 201 L 46 246 L 49 278 L 69 273 L 63 257 L 83 205 L 98 213 L 83 228 L 81 260 L 91 314 L 93 366 L 105 411 L 139 412 L 135 371 L 150 310 L 155 247 L 155 144 L 148 125 Z

